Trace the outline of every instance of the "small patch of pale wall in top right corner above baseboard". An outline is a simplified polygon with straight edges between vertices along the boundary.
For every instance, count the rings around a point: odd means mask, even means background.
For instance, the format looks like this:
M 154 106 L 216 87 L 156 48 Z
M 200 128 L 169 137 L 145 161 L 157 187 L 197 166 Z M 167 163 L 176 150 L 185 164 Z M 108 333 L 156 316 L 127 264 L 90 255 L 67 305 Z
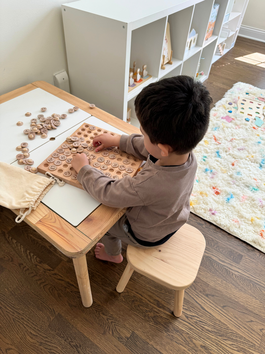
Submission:
M 265 0 L 249 0 L 242 25 L 265 30 Z

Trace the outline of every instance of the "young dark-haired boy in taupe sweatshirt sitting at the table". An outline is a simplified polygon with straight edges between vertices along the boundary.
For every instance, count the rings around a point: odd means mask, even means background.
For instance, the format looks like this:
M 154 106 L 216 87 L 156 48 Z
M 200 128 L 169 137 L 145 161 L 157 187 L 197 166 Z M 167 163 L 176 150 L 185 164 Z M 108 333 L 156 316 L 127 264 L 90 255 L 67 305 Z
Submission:
M 109 178 L 90 166 L 85 154 L 76 154 L 72 165 L 85 190 L 107 206 L 128 207 L 102 237 L 103 243 L 97 243 L 97 258 L 119 263 L 121 241 L 157 246 L 187 222 L 197 168 L 192 150 L 207 131 L 211 103 L 207 89 L 188 76 L 145 87 L 135 100 L 143 135 L 101 134 L 93 140 L 95 151 L 118 146 L 146 160 L 133 178 Z

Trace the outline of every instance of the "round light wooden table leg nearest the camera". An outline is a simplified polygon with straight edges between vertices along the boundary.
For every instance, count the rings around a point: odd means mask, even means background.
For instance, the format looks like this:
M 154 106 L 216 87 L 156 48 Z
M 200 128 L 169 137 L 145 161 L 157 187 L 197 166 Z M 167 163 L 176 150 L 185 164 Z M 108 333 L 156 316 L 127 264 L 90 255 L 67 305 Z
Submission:
M 85 307 L 89 307 L 92 305 L 93 299 L 88 277 L 88 264 L 86 254 L 80 258 L 73 258 L 73 262 L 83 305 Z

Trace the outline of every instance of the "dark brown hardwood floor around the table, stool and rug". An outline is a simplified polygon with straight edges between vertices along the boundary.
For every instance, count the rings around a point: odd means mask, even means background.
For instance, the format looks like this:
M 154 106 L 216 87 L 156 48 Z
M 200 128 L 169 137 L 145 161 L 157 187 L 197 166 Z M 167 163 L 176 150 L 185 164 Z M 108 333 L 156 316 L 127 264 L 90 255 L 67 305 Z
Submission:
M 234 60 L 265 54 L 265 43 L 239 37 L 205 85 L 214 103 L 238 81 L 265 89 L 265 69 Z M 0 208 L 0 353 L 264 354 L 265 254 L 190 215 L 206 239 L 183 313 L 174 292 L 134 273 L 115 291 L 126 266 L 87 254 L 93 305 L 83 307 L 72 259 Z

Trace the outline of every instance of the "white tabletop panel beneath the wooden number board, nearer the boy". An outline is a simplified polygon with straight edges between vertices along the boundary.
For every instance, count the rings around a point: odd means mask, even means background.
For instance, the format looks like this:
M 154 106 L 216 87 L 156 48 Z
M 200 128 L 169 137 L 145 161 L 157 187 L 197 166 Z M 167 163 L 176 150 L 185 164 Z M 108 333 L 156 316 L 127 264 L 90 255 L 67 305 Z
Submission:
M 103 129 L 111 130 L 118 134 L 126 134 L 114 126 L 93 116 L 86 119 L 84 122 L 99 126 Z M 46 144 L 33 150 L 30 153 L 30 158 L 34 160 L 34 166 L 37 167 L 41 162 L 43 162 L 57 147 L 59 147 L 60 144 L 65 141 L 66 137 L 73 134 L 81 124 L 65 131 L 61 135 L 57 136 L 55 140 L 49 140 Z M 24 165 L 18 165 L 17 161 L 12 164 L 14 166 L 24 168 Z M 42 175 L 39 172 L 38 174 Z M 73 226 L 78 226 L 100 205 L 100 203 L 92 198 L 86 191 L 71 186 L 67 183 L 63 187 L 60 187 L 56 183 L 42 199 L 42 203 Z

